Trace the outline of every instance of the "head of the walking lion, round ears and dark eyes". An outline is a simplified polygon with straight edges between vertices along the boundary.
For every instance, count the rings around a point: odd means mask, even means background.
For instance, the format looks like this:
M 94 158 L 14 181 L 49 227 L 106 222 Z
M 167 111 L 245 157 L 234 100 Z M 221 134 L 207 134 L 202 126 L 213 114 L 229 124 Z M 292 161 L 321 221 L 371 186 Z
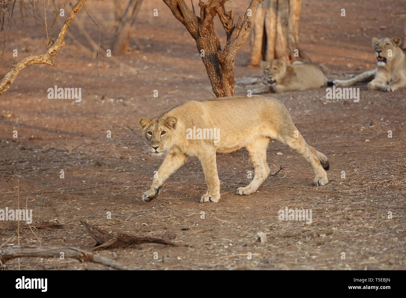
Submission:
M 172 148 L 177 123 L 176 117 L 160 117 L 152 120 L 140 118 L 138 123 L 144 131 L 148 140 L 149 151 L 152 154 L 161 156 Z

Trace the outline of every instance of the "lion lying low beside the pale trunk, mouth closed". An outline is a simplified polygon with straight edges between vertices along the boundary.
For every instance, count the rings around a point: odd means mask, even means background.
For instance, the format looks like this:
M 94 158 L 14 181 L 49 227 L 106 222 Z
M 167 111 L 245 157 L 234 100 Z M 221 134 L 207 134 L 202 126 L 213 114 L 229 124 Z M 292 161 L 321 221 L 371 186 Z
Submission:
M 313 63 L 295 61 L 292 65 L 282 60 L 261 61 L 265 88 L 257 88 L 253 93 L 287 92 L 308 90 L 327 86 L 327 78 L 320 68 Z

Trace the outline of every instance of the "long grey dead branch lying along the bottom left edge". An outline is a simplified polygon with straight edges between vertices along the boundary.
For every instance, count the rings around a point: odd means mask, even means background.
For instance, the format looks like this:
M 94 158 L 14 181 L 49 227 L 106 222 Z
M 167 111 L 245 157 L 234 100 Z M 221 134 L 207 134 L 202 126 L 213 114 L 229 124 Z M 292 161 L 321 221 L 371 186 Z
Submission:
M 59 259 L 61 256 L 60 253 L 62 252 L 64 253 L 64 257 L 75 258 L 79 262 L 93 262 L 118 270 L 130 270 L 129 267 L 117 263 L 112 259 L 101 257 L 76 247 L 39 247 L 35 245 L 14 245 L 3 249 L 0 251 L 0 266 L 8 260 L 16 257 L 54 257 Z

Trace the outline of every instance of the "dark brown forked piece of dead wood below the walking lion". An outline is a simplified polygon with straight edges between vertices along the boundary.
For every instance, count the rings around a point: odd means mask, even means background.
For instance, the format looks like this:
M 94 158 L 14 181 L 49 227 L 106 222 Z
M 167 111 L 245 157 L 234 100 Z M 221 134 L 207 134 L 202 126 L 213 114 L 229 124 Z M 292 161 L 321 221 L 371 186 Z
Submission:
M 135 236 L 130 233 L 119 233 L 117 236 L 112 236 L 103 230 L 87 223 L 84 220 L 80 220 L 82 225 L 85 227 L 86 231 L 96 240 L 96 244 L 99 244 L 97 247 L 92 249 L 92 251 L 101 249 L 104 247 L 127 247 L 131 244 L 142 244 L 142 243 L 157 243 L 171 246 L 179 246 L 173 242 L 167 241 L 162 238 L 152 238 L 152 237 L 143 237 Z M 184 245 L 187 246 L 187 245 Z

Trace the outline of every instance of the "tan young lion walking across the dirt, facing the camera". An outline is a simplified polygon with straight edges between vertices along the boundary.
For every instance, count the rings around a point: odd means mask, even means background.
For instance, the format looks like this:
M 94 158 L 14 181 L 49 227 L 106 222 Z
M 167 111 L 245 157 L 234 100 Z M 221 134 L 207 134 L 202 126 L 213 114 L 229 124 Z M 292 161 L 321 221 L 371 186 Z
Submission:
M 139 124 L 151 154 L 167 154 L 151 189 L 142 195 L 144 201 L 158 197 L 166 178 L 188 157 L 197 156 L 207 183 L 207 192 L 200 202 L 218 202 L 220 180 L 216 152 L 229 153 L 243 147 L 248 150 L 255 176 L 248 186 L 238 188 L 236 194 L 254 193 L 270 173 L 266 163 L 270 138 L 287 144 L 310 163 L 315 185 L 328 182 L 324 170 L 329 167 L 327 157 L 304 141 L 285 105 L 272 97 L 230 96 L 186 101 L 152 120 L 140 118 Z

